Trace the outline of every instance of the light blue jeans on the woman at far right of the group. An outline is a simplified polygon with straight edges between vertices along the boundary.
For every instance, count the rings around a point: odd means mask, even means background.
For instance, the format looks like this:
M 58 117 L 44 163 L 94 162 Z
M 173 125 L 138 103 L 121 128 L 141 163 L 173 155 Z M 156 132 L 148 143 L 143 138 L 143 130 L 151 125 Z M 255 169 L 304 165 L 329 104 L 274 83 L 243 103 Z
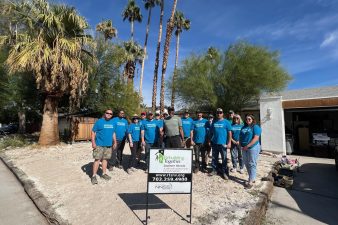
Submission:
M 256 179 L 257 160 L 260 150 L 261 146 L 260 144 L 257 144 L 251 149 L 243 151 L 243 161 L 249 174 L 249 182 L 254 181 Z

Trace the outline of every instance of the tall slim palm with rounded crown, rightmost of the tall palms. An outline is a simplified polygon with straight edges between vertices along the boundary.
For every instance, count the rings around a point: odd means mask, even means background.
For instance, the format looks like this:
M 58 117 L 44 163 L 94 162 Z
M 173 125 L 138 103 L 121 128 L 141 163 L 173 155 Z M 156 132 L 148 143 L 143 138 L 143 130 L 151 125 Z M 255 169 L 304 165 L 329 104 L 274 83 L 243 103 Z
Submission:
M 176 36 L 176 55 L 175 55 L 175 68 L 172 80 L 171 89 L 171 107 L 175 106 L 175 82 L 177 77 L 177 64 L 178 64 L 178 50 L 180 46 L 180 34 L 183 30 L 190 29 L 190 20 L 186 19 L 182 12 L 176 11 L 174 16 L 175 36 Z

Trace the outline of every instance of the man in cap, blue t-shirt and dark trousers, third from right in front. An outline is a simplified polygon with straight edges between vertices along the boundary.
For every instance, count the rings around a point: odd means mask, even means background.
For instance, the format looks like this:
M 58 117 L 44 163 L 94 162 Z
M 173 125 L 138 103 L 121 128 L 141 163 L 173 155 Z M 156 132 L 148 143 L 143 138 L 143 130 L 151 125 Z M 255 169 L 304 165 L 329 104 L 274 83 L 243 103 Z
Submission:
M 231 125 L 224 119 L 223 110 L 218 108 L 216 111 L 217 120 L 210 127 L 211 146 L 212 146 L 212 172 L 210 175 L 217 174 L 218 156 L 221 153 L 222 168 L 221 177 L 228 180 L 229 171 L 227 166 L 227 149 L 231 146 Z

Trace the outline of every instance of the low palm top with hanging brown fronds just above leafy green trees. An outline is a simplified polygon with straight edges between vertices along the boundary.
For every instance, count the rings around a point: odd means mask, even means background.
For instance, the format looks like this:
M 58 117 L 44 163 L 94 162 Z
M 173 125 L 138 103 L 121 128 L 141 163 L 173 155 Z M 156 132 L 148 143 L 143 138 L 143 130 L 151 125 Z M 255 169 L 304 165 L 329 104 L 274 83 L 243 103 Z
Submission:
M 123 43 L 125 55 L 124 60 L 126 65 L 123 71 L 123 77 L 132 83 L 134 80 L 136 63 L 141 63 L 144 57 L 142 47 L 134 41 L 127 41 Z

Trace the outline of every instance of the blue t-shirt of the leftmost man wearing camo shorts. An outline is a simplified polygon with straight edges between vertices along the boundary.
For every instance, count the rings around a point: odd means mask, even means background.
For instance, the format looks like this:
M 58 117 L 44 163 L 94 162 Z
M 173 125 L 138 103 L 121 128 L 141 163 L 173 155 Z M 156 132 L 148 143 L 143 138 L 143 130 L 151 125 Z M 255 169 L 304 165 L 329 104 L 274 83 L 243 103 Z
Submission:
M 95 143 L 97 146 L 110 147 L 113 145 L 114 122 L 103 118 L 96 121 L 92 131 L 95 132 Z

